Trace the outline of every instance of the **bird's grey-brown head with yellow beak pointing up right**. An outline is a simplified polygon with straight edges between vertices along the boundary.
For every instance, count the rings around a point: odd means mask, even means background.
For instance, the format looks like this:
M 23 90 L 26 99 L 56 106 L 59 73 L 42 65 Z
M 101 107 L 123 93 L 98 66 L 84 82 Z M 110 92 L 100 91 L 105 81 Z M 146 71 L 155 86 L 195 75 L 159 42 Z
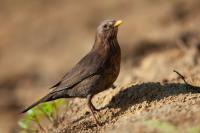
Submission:
M 118 26 L 122 24 L 121 20 L 105 20 L 97 28 L 97 37 L 103 40 L 109 40 L 117 37 Z

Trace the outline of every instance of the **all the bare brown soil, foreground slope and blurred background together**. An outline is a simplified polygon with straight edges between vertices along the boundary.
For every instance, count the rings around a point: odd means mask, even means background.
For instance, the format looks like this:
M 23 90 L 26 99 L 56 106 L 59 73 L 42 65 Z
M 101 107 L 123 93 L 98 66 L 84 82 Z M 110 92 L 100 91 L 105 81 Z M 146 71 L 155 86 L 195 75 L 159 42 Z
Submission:
M 149 120 L 200 132 L 199 0 L 3 0 L 0 7 L 0 132 L 19 132 L 18 112 L 89 51 L 97 25 L 108 18 L 124 21 L 122 63 L 117 87 L 93 99 L 101 126 L 86 100 L 75 98 L 47 132 L 169 132 Z

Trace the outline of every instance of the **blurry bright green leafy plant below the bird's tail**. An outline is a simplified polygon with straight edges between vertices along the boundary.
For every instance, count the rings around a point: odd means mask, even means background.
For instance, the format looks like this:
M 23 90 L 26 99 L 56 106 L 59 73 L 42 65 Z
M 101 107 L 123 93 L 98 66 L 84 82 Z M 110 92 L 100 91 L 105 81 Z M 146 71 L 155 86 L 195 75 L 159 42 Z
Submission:
M 47 119 L 49 123 L 54 125 L 54 122 L 59 119 L 59 108 L 61 106 L 67 108 L 67 104 L 64 102 L 64 99 L 59 99 L 53 102 L 42 103 L 30 109 L 24 117 L 18 121 L 20 129 L 25 132 L 37 132 L 38 130 L 46 132 L 42 120 Z

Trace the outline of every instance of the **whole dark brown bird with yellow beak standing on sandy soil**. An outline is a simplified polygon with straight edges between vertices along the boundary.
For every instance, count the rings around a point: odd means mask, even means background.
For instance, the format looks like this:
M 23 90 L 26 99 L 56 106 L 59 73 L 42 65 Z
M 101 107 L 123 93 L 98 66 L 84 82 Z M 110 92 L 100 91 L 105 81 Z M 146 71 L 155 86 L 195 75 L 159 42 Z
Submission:
M 22 113 L 40 103 L 60 98 L 86 98 L 87 106 L 96 122 L 100 125 L 94 112 L 97 111 L 92 104 L 94 95 L 112 87 L 120 72 L 121 48 L 117 40 L 118 27 L 122 20 L 104 20 L 97 27 L 94 44 L 84 56 L 46 96 L 33 103 Z

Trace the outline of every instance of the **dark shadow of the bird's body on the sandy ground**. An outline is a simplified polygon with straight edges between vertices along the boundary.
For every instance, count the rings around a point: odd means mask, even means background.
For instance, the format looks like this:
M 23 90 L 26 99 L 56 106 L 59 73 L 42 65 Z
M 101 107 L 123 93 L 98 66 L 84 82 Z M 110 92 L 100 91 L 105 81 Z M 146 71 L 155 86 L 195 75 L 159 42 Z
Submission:
M 121 90 L 106 107 L 120 108 L 121 112 L 124 112 L 130 106 L 144 101 L 159 101 L 169 96 L 186 93 L 200 93 L 200 87 L 182 83 L 142 83 Z

